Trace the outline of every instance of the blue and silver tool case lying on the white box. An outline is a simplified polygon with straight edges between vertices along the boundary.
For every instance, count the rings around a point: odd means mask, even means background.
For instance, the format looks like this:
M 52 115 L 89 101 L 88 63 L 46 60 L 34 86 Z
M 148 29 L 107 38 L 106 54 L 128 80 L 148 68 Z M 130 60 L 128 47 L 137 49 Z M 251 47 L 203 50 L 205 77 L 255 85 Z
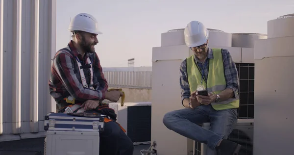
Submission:
M 80 117 L 51 112 L 45 116 L 44 129 L 62 131 L 103 131 L 104 117 Z

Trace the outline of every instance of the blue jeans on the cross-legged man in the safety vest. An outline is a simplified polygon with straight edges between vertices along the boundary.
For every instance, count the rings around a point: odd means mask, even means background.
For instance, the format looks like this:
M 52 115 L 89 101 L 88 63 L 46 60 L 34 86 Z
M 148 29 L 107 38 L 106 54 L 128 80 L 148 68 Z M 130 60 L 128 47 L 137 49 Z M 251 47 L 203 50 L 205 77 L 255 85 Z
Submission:
M 202 123 L 210 122 L 210 130 L 202 128 Z M 184 108 L 168 112 L 163 124 L 176 133 L 206 144 L 207 155 L 216 155 L 215 147 L 221 139 L 226 139 L 237 123 L 237 109 L 215 110 L 211 104 L 195 109 Z

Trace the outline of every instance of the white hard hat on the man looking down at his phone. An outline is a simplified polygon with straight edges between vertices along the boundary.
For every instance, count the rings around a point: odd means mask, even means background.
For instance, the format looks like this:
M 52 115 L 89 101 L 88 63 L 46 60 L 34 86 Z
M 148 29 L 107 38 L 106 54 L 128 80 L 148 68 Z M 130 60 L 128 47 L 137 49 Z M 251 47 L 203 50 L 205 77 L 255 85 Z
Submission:
M 208 40 L 208 33 L 207 28 L 201 22 L 192 21 L 184 30 L 185 43 L 190 48 L 203 45 Z

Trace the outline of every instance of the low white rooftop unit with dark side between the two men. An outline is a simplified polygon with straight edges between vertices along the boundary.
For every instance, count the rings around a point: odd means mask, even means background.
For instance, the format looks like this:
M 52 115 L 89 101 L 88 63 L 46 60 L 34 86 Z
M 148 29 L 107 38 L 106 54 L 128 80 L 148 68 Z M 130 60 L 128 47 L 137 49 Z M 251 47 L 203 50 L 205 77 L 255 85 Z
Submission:
M 117 122 L 126 130 L 134 145 L 150 144 L 151 102 L 109 103 L 117 114 Z

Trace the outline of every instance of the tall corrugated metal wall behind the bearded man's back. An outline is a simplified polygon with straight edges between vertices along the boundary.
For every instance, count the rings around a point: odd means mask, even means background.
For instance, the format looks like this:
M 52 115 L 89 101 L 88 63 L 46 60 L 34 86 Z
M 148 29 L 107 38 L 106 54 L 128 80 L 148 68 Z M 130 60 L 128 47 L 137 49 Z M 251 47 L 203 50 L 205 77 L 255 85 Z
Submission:
M 56 0 L 0 0 L 0 141 L 45 135 L 55 38 Z

